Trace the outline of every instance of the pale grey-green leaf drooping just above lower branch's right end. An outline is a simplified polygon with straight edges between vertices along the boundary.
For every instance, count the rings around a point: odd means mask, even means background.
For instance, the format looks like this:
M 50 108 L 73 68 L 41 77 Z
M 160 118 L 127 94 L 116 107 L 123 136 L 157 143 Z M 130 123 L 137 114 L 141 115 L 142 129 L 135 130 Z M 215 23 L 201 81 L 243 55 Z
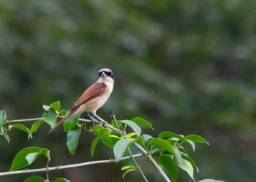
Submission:
M 124 138 L 120 141 L 117 141 L 114 146 L 114 155 L 116 158 L 116 162 L 119 162 L 121 160 L 121 157 L 124 156 L 124 151 L 126 151 L 127 147 L 129 146 L 132 141 L 135 141 L 134 138 Z

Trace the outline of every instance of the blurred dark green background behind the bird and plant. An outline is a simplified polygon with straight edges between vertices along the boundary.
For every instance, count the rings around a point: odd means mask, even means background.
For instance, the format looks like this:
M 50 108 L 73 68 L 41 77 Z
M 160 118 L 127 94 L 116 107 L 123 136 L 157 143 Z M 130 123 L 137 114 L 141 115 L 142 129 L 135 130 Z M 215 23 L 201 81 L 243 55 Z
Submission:
M 255 181 L 255 9 L 255 0 L 0 1 L 0 108 L 8 119 L 42 116 L 42 104 L 56 100 L 69 108 L 100 68 L 111 68 L 115 89 L 100 116 L 141 116 L 155 129 L 143 132 L 154 136 L 164 130 L 202 135 L 210 146 L 197 145 L 192 154 L 197 180 Z M 10 132 L 10 144 L 0 138 L 0 170 L 9 170 L 26 146 L 50 149 L 51 166 L 113 157 L 99 145 L 92 158 L 88 132 L 71 157 L 64 132 L 48 130 L 42 125 L 31 141 L 19 130 Z M 146 160 L 140 164 L 150 181 L 162 181 Z M 43 166 L 39 159 L 31 167 Z M 50 178 L 142 181 L 138 173 L 123 180 L 120 169 L 95 165 Z M 178 181 L 192 180 L 180 171 Z

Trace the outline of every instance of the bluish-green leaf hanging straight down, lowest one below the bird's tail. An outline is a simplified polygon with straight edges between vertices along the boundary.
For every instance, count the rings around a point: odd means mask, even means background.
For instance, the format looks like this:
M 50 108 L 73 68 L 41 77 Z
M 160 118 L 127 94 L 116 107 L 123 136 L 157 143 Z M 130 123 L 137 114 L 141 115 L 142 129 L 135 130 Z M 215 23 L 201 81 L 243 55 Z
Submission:
M 67 148 L 71 155 L 75 154 L 75 149 L 78 146 L 79 136 L 81 133 L 81 127 L 76 126 L 73 130 L 70 130 L 67 133 Z

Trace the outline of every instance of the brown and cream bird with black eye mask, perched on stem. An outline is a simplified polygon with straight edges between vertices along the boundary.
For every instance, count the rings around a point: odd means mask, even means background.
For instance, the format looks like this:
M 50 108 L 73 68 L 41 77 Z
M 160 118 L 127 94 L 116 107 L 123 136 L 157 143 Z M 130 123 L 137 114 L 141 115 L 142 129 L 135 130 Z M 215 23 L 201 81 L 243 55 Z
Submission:
M 75 101 L 72 108 L 68 111 L 67 116 L 61 119 L 53 129 L 52 132 L 64 122 L 70 116 L 75 114 L 81 114 L 83 112 L 96 114 L 96 111 L 101 108 L 105 102 L 110 97 L 111 92 L 113 91 L 114 86 L 114 77 L 113 72 L 108 68 L 102 68 L 99 70 L 99 79 L 97 82 L 92 84 L 83 94 Z M 90 115 L 89 115 L 90 116 Z

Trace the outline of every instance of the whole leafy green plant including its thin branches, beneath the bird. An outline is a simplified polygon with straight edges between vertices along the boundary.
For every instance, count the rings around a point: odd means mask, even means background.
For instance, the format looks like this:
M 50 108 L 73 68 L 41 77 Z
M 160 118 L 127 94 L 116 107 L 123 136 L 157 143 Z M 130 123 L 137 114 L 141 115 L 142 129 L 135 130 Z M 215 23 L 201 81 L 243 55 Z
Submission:
M 50 128 L 53 128 L 58 118 L 64 117 L 67 114 L 67 110 L 61 110 L 61 104 L 59 101 L 51 103 L 50 106 L 43 106 L 45 112 L 41 118 L 35 119 L 17 119 L 9 121 L 5 111 L 0 111 L 0 135 L 10 142 L 8 132 L 12 128 L 22 130 L 28 134 L 28 140 L 33 138 L 33 133 L 37 132 L 38 128 L 43 123 L 47 123 Z M 140 117 L 135 117 L 130 120 L 117 120 L 114 114 L 110 114 L 113 119 L 109 123 L 102 123 L 103 119 L 97 116 L 94 121 L 88 119 L 80 119 L 78 115 L 72 116 L 64 122 L 64 132 L 67 132 L 67 148 L 71 155 L 75 154 L 75 150 L 78 146 L 80 133 L 93 132 L 96 135 L 94 141 L 91 142 L 91 155 L 94 155 L 94 151 L 97 148 L 97 143 L 101 141 L 106 147 L 113 149 L 115 159 L 83 162 L 75 165 L 64 165 L 59 167 L 48 167 L 50 162 L 50 151 L 38 146 L 30 146 L 22 149 L 16 154 L 10 167 L 10 172 L 0 173 L 1 175 L 12 175 L 18 173 L 34 173 L 39 171 L 45 171 L 47 178 L 44 179 L 39 176 L 31 176 L 25 181 L 50 181 L 48 172 L 50 170 L 61 170 L 71 167 L 80 167 L 83 165 L 95 165 L 101 163 L 120 162 L 132 159 L 132 163 L 124 165 L 121 170 L 123 171 L 122 177 L 128 173 L 138 171 L 144 181 L 148 181 L 146 175 L 143 173 L 140 165 L 136 161 L 136 157 L 146 156 L 148 160 L 156 167 L 158 172 L 162 175 L 165 181 L 177 181 L 178 168 L 185 170 L 188 175 L 195 181 L 194 170 L 197 169 L 195 161 L 187 154 L 186 147 L 189 146 L 195 151 L 195 143 L 207 143 L 208 142 L 199 135 L 178 135 L 174 132 L 164 131 L 157 137 L 153 137 L 148 134 L 143 134 L 140 126 L 148 127 L 153 130 L 153 126 L 150 122 Z M 26 127 L 19 122 L 34 122 L 31 127 Z M 18 123 L 18 124 L 16 124 Z M 95 125 L 94 125 L 94 124 Z M 186 146 L 187 145 L 187 146 Z M 130 146 L 135 146 L 139 152 L 138 154 L 132 154 Z M 124 154 L 128 151 L 128 156 L 124 157 Z M 38 157 L 45 156 L 47 159 L 46 166 L 41 169 L 34 170 L 21 170 L 28 167 L 37 160 Z M 127 163 L 127 162 L 124 162 Z M 166 175 L 166 173 L 167 175 Z M 68 181 L 65 178 L 57 178 L 55 182 Z M 207 179 L 202 182 L 211 182 L 214 180 Z

